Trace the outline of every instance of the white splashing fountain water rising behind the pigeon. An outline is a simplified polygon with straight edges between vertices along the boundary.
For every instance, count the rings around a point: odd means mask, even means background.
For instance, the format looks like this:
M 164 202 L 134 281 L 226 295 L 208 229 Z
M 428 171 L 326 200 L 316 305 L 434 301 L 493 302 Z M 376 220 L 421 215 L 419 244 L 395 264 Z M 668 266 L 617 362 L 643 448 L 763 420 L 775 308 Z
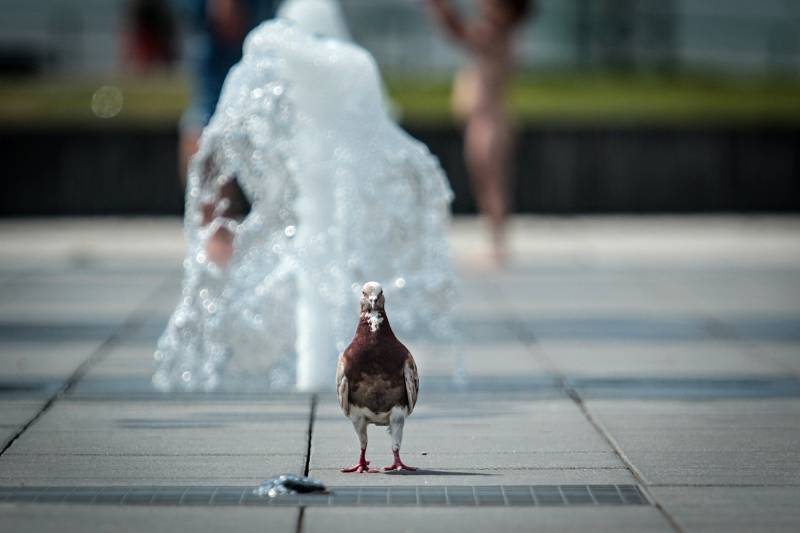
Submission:
M 155 352 L 162 390 L 214 389 L 223 373 L 239 388 L 332 388 L 366 280 L 396 302 L 394 328 L 451 339 L 439 162 L 387 113 L 338 2 L 281 14 L 247 37 L 190 163 L 183 297 Z

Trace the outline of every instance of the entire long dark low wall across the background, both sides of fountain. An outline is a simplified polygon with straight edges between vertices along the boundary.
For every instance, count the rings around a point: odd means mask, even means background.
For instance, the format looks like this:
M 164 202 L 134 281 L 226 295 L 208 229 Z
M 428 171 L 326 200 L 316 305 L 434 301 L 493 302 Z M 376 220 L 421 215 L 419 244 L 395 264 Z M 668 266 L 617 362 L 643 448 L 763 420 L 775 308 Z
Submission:
M 449 127 L 411 128 L 448 172 L 454 211 L 475 204 Z M 0 129 L 0 216 L 174 214 L 183 208 L 177 133 Z M 536 213 L 800 210 L 800 129 L 529 127 L 513 202 Z

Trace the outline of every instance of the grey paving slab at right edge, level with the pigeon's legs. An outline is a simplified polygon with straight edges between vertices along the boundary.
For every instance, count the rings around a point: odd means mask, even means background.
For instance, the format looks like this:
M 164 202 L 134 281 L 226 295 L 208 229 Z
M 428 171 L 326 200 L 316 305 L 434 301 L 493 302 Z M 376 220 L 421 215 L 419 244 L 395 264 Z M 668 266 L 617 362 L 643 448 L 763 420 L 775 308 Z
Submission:
M 650 484 L 800 479 L 800 400 L 588 402 Z

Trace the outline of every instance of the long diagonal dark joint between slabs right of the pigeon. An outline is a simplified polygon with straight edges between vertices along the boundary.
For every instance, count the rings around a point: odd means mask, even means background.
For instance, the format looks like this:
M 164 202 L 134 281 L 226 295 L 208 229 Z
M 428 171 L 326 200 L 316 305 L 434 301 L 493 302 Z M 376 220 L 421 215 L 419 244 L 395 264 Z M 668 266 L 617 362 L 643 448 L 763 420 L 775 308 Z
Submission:
M 502 288 L 498 287 L 498 291 L 501 291 L 502 294 Z M 522 342 L 524 346 L 529 347 L 537 342 L 536 336 L 533 334 L 533 332 L 528 330 L 528 328 L 525 326 L 522 320 L 517 318 L 515 320 L 512 320 L 512 324 L 513 324 L 513 329 L 516 331 L 517 337 L 519 338 L 519 341 Z M 535 350 L 531 350 L 531 354 L 534 355 L 534 357 L 536 357 Z M 625 465 L 625 468 L 631 473 L 634 479 L 636 479 L 639 482 L 640 489 L 644 494 L 645 498 L 648 501 L 650 501 L 656 509 L 658 509 L 659 513 L 661 513 L 661 516 L 664 517 L 667 523 L 669 523 L 669 525 L 672 526 L 672 528 L 675 531 L 679 533 L 685 533 L 685 529 L 678 523 L 677 519 L 673 517 L 661 505 L 661 503 L 650 493 L 650 491 L 647 489 L 647 484 L 644 481 L 644 476 L 642 476 L 642 473 L 639 472 L 639 469 L 636 468 L 636 466 L 630 461 L 630 459 L 628 459 L 628 457 L 625 455 L 625 452 L 622 450 L 622 448 L 619 446 L 616 440 L 614 440 L 611 434 L 609 434 L 608 431 L 606 431 L 606 429 L 603 427 L 603 425 L 592 416 L 592 414 L 589 412 L 589 409 L 586 407 L 586 404 L 583 402 L 583 398 L 581 398 L 580 394 L 578 394 L 578 391 L 575 390 L 575 388 L 569 384 L 566 376 L 564 376 L 564 374 L 561 372 L 558 366 L 553 362 L 552 359 L 550 359 L 550 357 L 544 352 L 544 350 L 541 351 L 540 357 L 543 360 L 545 366 L 548 368 L 548 370 L 553 374 L 553 376 L 556 377 L 558 385 L 564 392 L 564 394 L 566 394 L 573 401 L 573 403 L 575 403 L 578 409 L 580 409 L 584 418 L 586 418 L 586 420 L 589 422 L 589 424 L 592 425 L 595 431 L 597 431 L 600 434 L 600 436 L 603 437 L 603 439 L 605 439 L 606 443 L 611 447 L 611 449 L 614 451 L 617 457 L 619 457 L 620 461 L 622 461 L 622 464 Z

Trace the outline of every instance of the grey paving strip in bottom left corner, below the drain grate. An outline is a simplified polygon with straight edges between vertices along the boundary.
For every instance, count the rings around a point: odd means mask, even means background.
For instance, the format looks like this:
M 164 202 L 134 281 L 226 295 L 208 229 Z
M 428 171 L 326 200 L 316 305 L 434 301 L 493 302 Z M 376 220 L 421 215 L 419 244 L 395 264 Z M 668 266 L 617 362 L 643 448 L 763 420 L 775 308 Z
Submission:
M 0 504 L 4 533 L 294 533 L 296 509 L 186 509 Z

